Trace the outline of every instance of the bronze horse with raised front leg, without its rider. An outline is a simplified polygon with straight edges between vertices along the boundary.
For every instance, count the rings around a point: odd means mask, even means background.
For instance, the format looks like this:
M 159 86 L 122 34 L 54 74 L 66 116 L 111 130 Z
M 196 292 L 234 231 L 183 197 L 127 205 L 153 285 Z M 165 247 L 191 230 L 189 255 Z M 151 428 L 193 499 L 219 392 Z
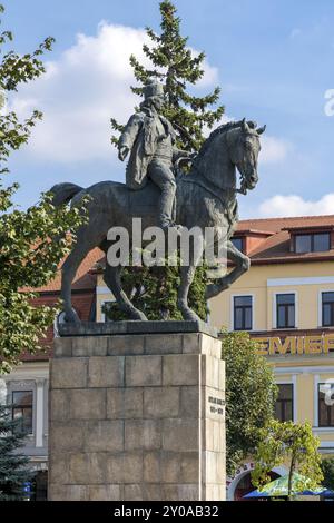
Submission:
M 176 223 L 191 229 L 197 226 L 203 231 L 215 227 L 225 231 L 227 238 L 227 258 L 235 264 L 232 272 L 207 285 L 206 298 L 218 295 L 228 288 L 249 268 L 249 259 L 229 240 L 238 220 L 237 193 L 246 194 L 255 188 L 257 159 L 261 150 L 259 136 L 265 127 L 257 128 L 254 122 L 230 122 L 215 129 L 204 142 L 195 158 L 190 172 L 177 178 Z M 237 189 L 236 169 L 242 177 L 242 187 Z M 61 298 L 65 319 L 78 323 L 79 318 L 71 305 L 71 284 L 76 272 L 95 247 L 107 253 L 107 240 L 111 227 L 125 227 L 130 237 L 132 218 L 143 219 L 143 228 L 157 226 L 159 194 L 154 184 L 148 182 L 141 190 L 130 190 L 124 184 L 101 181 L 88 189 L 75 184 L 59 184 L 52 187 L 53 205 L 72 201 L 80 207 L 82 198 L 89 195 L 88 223 L 77 231 L 77 241 L 62 265 Z M 185 319 L 198 320 L 198 316 L 188 306 L 188 292 L 194 279 L 198 259 L 180 267 L 178 307 Z M 226 266 L 226 262 L 225 262 Z M 121 310 L 129 319 L 147 319 L 138 310 L 121 287 L 121 266 L 106 264 L 104 279 L 114 294 Z

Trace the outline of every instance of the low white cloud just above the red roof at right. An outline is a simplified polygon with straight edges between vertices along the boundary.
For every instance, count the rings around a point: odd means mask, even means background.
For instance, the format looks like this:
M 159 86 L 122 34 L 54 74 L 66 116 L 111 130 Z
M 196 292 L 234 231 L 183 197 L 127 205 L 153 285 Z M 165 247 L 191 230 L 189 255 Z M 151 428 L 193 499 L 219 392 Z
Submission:
M 276 195 L 259 206 L 259 217 L 316 216 L 334 214 L 334 193 L 318 200 L 304 200 L 297 195 Z

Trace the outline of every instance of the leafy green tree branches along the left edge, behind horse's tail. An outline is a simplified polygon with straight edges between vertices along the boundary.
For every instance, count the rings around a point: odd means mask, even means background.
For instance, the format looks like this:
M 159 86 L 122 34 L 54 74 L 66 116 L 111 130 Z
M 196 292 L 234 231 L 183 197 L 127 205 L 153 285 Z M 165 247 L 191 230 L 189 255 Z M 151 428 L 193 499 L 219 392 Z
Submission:
M 0 51 L 8 48 L 12 39 L 10 31 L 2 32 Z M 2 105 L 7 93 L 17 91 L 22 82 L 38 78 L 45 71 L 40 58 L 51 49 L 52 41 L 47 38 L 36 51 L 23 56 L 13 50 L 2 52 Z M 22 352 L 32 353 L 39 348 L 39 341 L 53 322 L 56 310 L 36 308 L 32 303 L 36 294 L 30 290 L 52 278 L 73 240 L 66 233 L 75 230 L 84 219 L 79 209 L 56 209 L 48 195 L 27 211 L 19 210 L 13 207 L 18 184 L 3 185 L 10 154 L 27 144 L 31 129 L 41 117 L 41 112 L 33 111 L 31 117 L 20 121 L 13 111 L 3 110 L 0 115 L 0 373 L 10 372 Z

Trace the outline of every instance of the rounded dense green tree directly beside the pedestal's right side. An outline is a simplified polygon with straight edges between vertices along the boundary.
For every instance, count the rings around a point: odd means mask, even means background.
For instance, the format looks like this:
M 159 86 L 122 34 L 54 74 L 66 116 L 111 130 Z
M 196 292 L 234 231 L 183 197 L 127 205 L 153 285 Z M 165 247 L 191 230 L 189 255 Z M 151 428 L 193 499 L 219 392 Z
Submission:
M 226 468 L 233 475 L 254 456 L 274 414 L 277 386 L 266 359 L 247 333 L 223 333 L 226 364 Z

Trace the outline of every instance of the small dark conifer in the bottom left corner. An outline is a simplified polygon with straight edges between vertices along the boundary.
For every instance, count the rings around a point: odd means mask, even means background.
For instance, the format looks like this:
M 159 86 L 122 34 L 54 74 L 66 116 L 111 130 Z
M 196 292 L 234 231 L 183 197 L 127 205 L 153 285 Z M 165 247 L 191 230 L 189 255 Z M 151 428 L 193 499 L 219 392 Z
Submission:
M 0 501 L 19 501 L 24 496 L 24 484 L 32 477 L 29 458 L 19 453 L 24 432 L 21 420 L 11 418 L 11 408 L 0 405 Z

